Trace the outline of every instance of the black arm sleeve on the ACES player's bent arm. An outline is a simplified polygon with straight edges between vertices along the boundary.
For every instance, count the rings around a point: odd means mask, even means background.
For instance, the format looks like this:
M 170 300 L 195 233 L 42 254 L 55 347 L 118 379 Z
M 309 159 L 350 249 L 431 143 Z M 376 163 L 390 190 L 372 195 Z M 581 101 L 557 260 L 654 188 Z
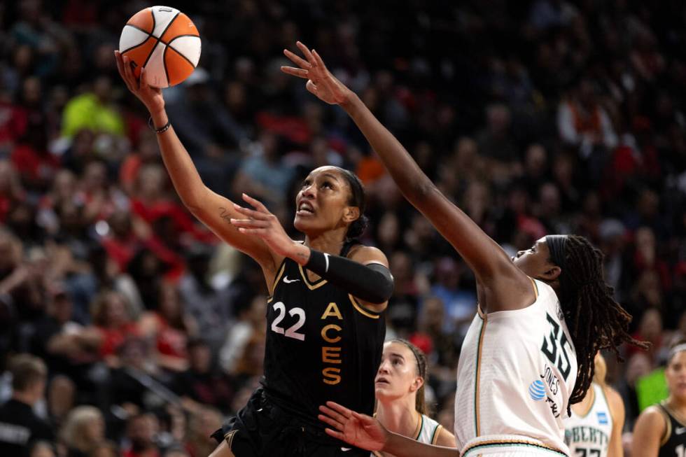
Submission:
M 393 294 L 393 275 L 378 263 L 362 265 L 349 258 L 310 249 L 304 267 L 365 302 L 383 303 Z

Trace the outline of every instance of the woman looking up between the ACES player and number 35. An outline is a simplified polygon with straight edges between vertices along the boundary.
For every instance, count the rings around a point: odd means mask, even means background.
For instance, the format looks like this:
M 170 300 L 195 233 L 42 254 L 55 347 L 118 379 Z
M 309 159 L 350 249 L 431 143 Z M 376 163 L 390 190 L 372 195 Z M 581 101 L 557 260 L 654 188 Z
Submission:
M 381 365 L 374 379 L 377 411 L 374 417 L 393 433 L 427 443 L 455 447 L 455 437 L 428 416 L 424 385 L 426 356 L 405 339 L 384 344 Z M 392 457 L 377 451 L 375 457 Z

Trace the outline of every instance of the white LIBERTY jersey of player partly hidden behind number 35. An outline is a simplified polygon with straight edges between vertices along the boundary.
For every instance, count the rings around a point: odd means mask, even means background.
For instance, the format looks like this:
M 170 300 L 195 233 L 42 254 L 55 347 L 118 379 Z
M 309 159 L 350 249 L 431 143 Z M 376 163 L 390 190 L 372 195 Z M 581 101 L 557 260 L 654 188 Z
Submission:
M 591 408 L 583 416 L 572 412 L 564 421 L 565 441 L 573 456 L 608 457 L 610 435 L 612 433 L 612 414 L 603 388 L 592 384 L 587 395 L 593 395 Z

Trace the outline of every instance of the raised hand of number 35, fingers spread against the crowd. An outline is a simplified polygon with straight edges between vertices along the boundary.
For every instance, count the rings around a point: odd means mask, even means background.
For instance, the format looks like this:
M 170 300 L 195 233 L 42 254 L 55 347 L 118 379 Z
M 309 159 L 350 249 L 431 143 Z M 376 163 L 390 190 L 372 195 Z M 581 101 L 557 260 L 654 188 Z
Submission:
M 317 54 L 316 50 L 309 50 L 306 45 L 298 41 L 295 43 L 304 55 L 304 59 L 299 55 L 290 52 L 288 49 L 283 50 L 283 54 L 288 57 L 291 62 L 297 65 L 282 66 L 281 71 L 289 75 L 297 76 L 298 78 L 307 79 L 307 90 L 315 94 L 319 99 L 331 105 L 342 104 L 352 94 L 352 91 L 345 87 L 343 83 L 335 78 L 326 68 L 323 60 Z

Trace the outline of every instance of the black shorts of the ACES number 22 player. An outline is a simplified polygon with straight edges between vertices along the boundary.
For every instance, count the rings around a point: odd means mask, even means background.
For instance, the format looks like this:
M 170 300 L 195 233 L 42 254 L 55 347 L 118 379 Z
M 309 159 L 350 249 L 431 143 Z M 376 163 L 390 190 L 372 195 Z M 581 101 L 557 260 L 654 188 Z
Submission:
M 248 404 L 212 434 L 236 457 L 369 457 L 284 411 L 258 388 Z

